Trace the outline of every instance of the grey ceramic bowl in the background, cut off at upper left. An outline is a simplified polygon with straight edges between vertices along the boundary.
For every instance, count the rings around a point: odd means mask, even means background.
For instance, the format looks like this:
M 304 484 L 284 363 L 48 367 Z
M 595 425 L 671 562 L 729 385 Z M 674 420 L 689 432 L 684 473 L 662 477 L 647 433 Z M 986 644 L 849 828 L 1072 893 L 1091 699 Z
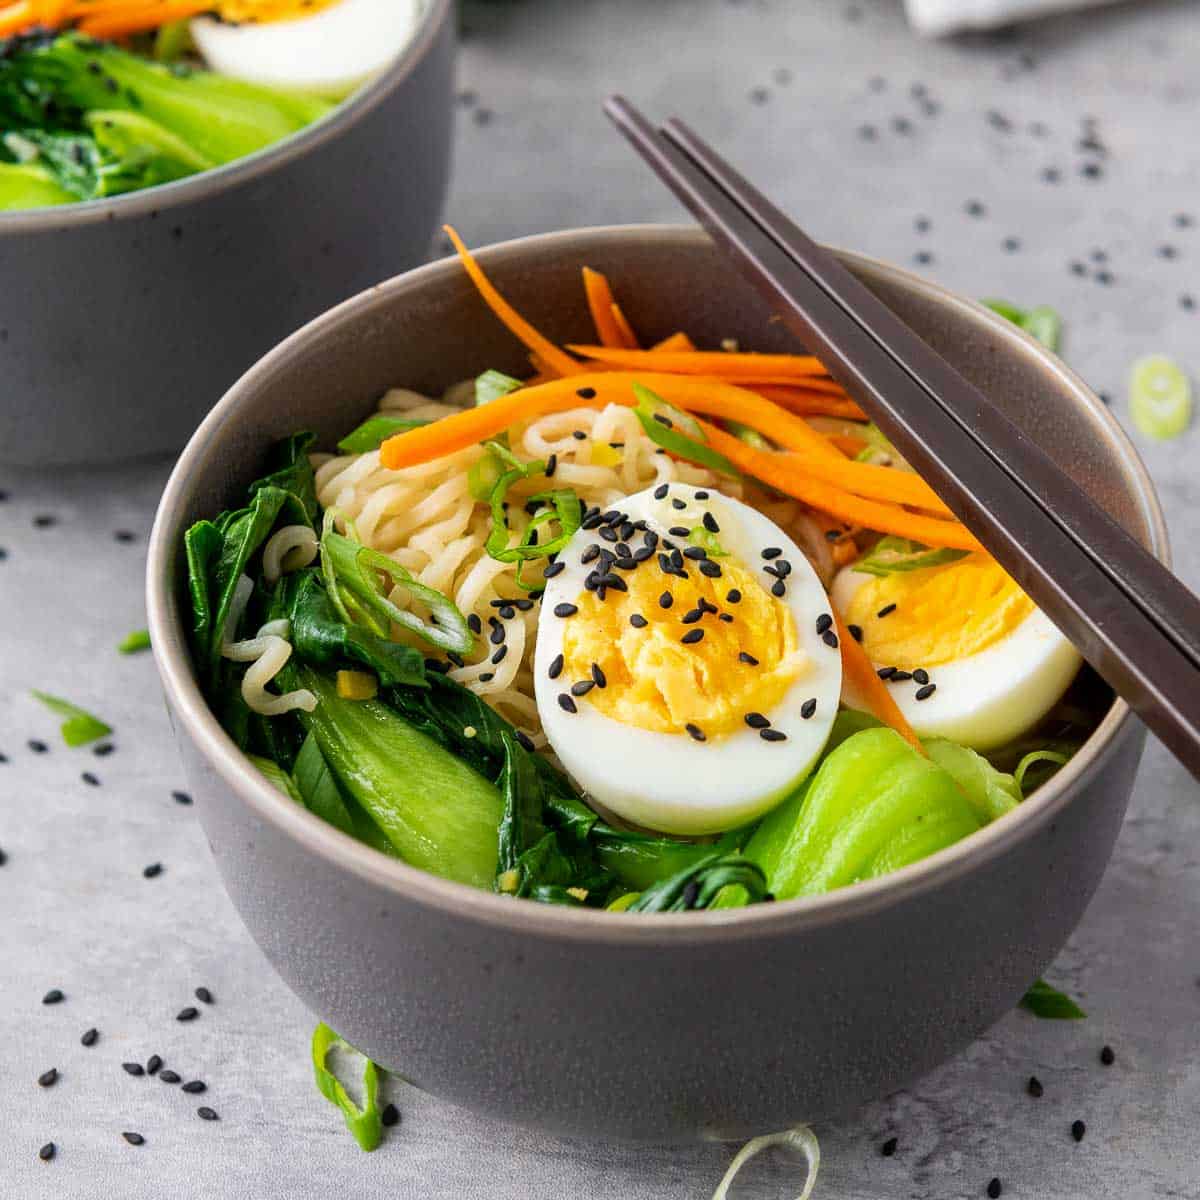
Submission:
M 454 6 L 326 120 L 176 184 L 0 214 L 0 462 L 178 450 L 282 337 L 424 260 L 450 157 Z

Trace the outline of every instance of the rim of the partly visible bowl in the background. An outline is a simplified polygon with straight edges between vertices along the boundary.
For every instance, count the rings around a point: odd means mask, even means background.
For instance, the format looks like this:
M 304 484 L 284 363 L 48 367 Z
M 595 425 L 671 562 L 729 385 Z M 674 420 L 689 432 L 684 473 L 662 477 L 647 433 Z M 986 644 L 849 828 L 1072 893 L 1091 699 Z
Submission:
M 361 85 L 330 113 L 280 142 L 186 179 L 156 184 L 98 200 L 77 200 L 36 209 L 0 212 L 0 236 L 53 233 L 118 218 L 164 215 L 193 200 L 232 191 L 241 184 L 282 169 L 287 163 L 340 137 L 373 112 L 415 71 L 449 19 L 454 0 L 421 0 L 424 12 L 416 29 L 396 59 L 370 83 Z

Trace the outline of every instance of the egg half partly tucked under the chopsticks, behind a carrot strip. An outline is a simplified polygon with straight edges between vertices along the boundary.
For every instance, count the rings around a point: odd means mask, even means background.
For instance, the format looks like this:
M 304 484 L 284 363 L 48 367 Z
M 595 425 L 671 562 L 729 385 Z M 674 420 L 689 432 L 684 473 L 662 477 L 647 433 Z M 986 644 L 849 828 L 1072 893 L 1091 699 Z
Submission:
M 832 595 L 922 737 L 994 750 L 1037 725 L 1082 662 L 986 554 L 882 576 L 851 565 Z

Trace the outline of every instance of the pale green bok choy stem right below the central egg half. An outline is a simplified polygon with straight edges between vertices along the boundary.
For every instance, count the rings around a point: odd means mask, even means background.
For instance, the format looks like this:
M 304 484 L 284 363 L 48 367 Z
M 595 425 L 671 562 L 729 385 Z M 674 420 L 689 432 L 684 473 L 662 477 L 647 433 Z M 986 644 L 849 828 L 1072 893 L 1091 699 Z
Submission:
M 949 772 L 889 728 L 846 738 L 746 844 L 781 900 L 870 880 L 953 845 L 983 820 Z

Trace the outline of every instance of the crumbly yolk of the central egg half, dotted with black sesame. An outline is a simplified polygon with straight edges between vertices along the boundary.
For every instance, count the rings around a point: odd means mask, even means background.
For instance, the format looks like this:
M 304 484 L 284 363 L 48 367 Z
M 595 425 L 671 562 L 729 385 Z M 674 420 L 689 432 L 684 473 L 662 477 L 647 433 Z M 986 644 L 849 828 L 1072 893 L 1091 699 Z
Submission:
M 629 592 L 608 592 L 604 600 L 582 593 L 563 630 L 563 678 L 588 679 L 592 664 L 599 664 L 605 686 L 593 688 L 588 701 L 616 721 L 658 733 L 684 733 L 694 725 L 712 739 L 744 727 L 746 713 L 769 712 L 804 664 L 796 622 L 749 570 L 730 558 L 718 562 L 715 580 L 694 563 L 686 580 L 647 563 L 623 576 Z M 731 589 L 740 599 L 731 601 Z M 660 602 L 665 594 L 668 608 Z M 701 600 L 708 610 L 684 623 Z M 630 623 L 634 616 L 637 624 Z M 695 630 L 703 637 L 685 643 Z

